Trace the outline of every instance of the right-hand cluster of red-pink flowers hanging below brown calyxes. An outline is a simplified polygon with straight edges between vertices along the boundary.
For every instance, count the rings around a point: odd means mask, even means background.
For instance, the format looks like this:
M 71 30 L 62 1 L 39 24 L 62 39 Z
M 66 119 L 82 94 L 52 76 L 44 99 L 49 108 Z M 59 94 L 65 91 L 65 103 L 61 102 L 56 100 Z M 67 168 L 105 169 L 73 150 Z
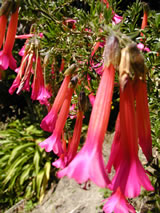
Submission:
M 120 197 L 133 198 L 139 196 L 141 186 L 146 190 L 153 190 L 138 158 L 139 144 L 147 160 L 151 160 L 152 140 L 144 79 L 145 65 L 136 44 L 131 44 L 122 50 L 119 72 L 120 112 L 116 121 L 115 136 L 107 164 L 108 172 L 114 166 L 116 173 L 112 179 L 112 184 L 109 186 L 113 190 L 112 199 L 108 199 L 104 211 L 110 212 L 109 203 L 112 203 L 115 199 L 115 212 L 135 212 L 130 209 L 128 204 L 125 204 L 126 210 L 122 211 L 124 201 L 121 202 L 122 209 L 118 210 L 120 204 L 116 203 L 116 199 L 117 195 L 119 199 Z

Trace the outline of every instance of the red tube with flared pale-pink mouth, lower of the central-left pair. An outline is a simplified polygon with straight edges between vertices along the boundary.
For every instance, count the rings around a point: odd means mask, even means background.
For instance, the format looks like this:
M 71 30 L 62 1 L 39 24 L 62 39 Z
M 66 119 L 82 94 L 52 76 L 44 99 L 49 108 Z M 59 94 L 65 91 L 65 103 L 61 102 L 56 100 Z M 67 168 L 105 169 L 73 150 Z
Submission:
M 58 115 L 58 119 L 52 135 L 39 144 L 41 148 L 45 148 L 46 152 L 51 152 L 53 150 L 53 152 L 58 156 L 63 154 L 61 135 L 68 116 L 73 91 L 73 88 L 68 88 L 66 98 Z

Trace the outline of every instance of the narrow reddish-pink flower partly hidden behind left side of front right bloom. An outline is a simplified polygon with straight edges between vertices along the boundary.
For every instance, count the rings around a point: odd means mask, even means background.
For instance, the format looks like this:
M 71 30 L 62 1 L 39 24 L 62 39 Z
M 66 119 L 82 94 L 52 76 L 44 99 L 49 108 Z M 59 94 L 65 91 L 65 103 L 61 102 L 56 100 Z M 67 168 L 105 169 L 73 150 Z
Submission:
M 112 166 L 117 170 L 119 165 L 119 158 L 117 156 L 120 154 L 120 113 L 118 114 L 116 127 L 115 127 L 115 135 L 112 142 L 111 152 L 109 156 L 109 160 L 106 166 L 107 172 L 111 172 Z

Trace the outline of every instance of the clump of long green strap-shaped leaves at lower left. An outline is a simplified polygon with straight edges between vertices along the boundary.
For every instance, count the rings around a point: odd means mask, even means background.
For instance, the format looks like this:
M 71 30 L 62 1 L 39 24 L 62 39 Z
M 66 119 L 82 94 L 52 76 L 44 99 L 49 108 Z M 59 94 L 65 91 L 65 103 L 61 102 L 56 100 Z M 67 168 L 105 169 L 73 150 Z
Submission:
M 42 201 L 51 172 L 51 156 L 38 146 L 44 138 L 40 128 L 20 120 L 0 131 L 2 209 L 22 198 Z

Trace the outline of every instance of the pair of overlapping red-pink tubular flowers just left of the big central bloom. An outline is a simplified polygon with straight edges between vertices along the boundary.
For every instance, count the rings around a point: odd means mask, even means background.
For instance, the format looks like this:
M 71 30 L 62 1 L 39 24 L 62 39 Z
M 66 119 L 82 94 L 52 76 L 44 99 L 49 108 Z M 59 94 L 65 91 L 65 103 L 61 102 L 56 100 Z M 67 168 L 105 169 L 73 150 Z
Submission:
M 71 98 L 78 80 L 76 76 L 71 79 L 72 72 L 75 69 L 76 65 L 73 64 L 66 70 L 65 79 L 56 96 L 53 106 L 48 115 L 41 122 L 41 127 L 45 131 L 52 132 L 52 135 L 39 145 L 40 147 L 45 148 L 47 152 L 53 151 L 58 156 L 64 154 L 61 136 L 68 117 Z

